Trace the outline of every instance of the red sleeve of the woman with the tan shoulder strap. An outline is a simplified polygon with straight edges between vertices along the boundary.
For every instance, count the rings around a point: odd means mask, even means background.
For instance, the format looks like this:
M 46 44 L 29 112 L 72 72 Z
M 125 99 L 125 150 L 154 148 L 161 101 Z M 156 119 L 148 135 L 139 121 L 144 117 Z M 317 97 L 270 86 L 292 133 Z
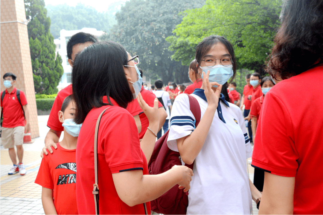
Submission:
M 133 117 L 122 108 L 102 115 L 98 141 L 111 173 L 143 170 L 138 130 Z

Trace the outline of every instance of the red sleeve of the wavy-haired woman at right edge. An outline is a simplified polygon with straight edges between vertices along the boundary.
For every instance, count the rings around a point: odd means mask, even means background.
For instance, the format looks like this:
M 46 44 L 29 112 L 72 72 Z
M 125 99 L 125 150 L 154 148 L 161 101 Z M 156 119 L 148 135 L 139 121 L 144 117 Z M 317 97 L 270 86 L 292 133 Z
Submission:
M 257 125 L 252 165 L 276 175 L 295 177 L 299 158 L 293 126 L 284 103 L 268 92 Z

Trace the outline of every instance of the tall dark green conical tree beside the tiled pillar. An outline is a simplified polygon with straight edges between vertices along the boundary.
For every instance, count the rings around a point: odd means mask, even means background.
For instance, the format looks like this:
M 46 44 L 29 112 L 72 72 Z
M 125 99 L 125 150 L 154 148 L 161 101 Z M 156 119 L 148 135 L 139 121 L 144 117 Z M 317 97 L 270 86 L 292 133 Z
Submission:
M 50 18 L 47 17 L 44 0 L 25 0 L 26 16 L 35 92 L 57 93 L 57 85 L 64 71 L 62 58 L 55 56 L 54 37 L 50 34 Z

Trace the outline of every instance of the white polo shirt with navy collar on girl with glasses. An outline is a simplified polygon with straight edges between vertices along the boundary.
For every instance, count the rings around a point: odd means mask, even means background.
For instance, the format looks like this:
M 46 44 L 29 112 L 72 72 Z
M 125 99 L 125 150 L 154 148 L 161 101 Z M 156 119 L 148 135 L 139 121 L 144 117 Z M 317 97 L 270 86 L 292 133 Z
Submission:
M 193 94 L 201 107 L 201 118 L 207 108 L 204 90 Z M 195 118 L 188 96 L 178 95 L 173 103 L 167 145 L 178 151 L 176 140 L 190 135 Z M 252 197 L 246 159 L 252 148 L 241 110 L 219 99 L 217 111 L 202 150 L 194 161 L 187 214 L 251 214 Z

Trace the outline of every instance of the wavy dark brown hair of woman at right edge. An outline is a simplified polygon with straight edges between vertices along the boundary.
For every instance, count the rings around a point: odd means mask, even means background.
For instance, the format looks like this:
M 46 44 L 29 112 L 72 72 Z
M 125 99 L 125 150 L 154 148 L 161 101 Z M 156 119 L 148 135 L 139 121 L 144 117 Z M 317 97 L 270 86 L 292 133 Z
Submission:
M 323 60 L 323 0 L 289 0 L 282 15 L 266 68 L 276 79 L 305 72 Z

